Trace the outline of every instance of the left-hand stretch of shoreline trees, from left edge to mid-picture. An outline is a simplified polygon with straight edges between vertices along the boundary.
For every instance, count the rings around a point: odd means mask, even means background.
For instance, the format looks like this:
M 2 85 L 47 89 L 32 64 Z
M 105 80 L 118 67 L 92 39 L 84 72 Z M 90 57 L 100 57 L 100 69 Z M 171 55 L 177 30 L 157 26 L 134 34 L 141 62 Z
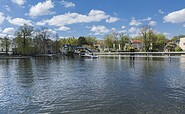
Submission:
M 48 53 L 60 53 L 60 48 L 64 44 L 70 44 L 73 46 L 90 46 L 93 47 L 97 43 L 95 37 L 79 38 L 59 38 L 57 33 L 53 33 L 47 27 L 41 27 L 34 30 L 34 27 L 24 24 L 20 26 L 14 33 L 13 41 L 5 36 L 0 38 L 1 47 L 5 49 L 5 53 L 8 54 L 11 43 L 13 42 L 13 53 L 19 55 L 37 55 Z M 52 50 L 49 52 L 48 49 Z M 4 50 L 1 50 L 4 51 Z

